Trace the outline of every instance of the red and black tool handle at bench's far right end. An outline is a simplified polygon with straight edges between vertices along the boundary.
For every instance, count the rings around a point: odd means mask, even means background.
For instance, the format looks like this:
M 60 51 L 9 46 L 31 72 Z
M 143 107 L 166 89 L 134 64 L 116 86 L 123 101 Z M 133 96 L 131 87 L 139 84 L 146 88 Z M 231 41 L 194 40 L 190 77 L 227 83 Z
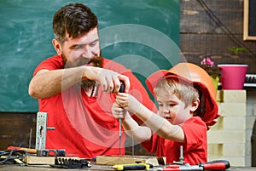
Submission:
M 204 170 L 225 170 L 230 168 L 230 162 L 226 160 L 214 160 L 202 164 Z

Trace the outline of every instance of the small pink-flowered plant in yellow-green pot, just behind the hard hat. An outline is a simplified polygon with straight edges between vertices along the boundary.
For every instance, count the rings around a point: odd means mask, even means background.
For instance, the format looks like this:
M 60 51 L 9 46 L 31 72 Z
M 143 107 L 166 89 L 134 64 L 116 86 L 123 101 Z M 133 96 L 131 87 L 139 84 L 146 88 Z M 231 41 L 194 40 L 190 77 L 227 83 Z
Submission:
M 214 87 L 217 91 L 219 77 L 221 76 L 221 72 L 219 71 L 218 66 L 214 65 L 214 62 L 210 57 L 206 57 L 201 60 L 201 67 L 212 77 L 212 83 L 214 84 Z

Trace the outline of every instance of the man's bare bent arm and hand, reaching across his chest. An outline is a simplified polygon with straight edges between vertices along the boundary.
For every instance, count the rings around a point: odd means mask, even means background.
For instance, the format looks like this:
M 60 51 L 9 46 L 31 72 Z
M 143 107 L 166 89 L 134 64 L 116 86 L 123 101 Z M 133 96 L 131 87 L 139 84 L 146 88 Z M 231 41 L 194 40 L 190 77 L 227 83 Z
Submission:
M 100 83 L 102 90 L 108 93 L 119 91 L 119 80 L 125 82 L 125 92 L 128 92 L 130 88 L 129 78 L 115 71 L 94 66 L 79 66 L 53 71 L 38 71 L 32 77 L 28 93 L 36 99 L 44 99 L 59 94 L 61 91 L 85 79 L 95 80 Z

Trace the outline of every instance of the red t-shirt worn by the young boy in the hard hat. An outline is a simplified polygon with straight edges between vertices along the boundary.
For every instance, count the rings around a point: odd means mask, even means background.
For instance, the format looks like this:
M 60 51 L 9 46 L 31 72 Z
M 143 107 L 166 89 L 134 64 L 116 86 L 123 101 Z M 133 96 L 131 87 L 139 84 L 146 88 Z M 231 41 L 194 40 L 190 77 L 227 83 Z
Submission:
M 148 152 L 154 152 L 157 157 L 166 157 L 167 163 L 179 161 L 180 145 L 183 145 L 184 162 L 197 165 L 207 162 L 207 126 L 201 117 L 190 117 L 183 125 L 186 142 L 178 143 L 173 140 L 163 139 L 153 134 L 151 140 L 143 142 Z

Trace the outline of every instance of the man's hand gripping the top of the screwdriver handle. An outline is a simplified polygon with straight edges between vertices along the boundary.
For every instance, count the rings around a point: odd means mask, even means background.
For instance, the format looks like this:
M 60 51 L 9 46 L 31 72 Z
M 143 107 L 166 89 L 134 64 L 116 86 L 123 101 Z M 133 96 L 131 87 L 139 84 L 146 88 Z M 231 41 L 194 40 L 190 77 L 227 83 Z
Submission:
M 83 66 L 84 76 L 87 79 L 95 80 L 102 85 L 102 91 L 107 93 L 118 93 L 121 86 L 120 81 L 125 83 L 125 93 L 128 93 L 130 88 L 129 77 L 121 75 L 118 72 L 107 70 L 104 68 Z

